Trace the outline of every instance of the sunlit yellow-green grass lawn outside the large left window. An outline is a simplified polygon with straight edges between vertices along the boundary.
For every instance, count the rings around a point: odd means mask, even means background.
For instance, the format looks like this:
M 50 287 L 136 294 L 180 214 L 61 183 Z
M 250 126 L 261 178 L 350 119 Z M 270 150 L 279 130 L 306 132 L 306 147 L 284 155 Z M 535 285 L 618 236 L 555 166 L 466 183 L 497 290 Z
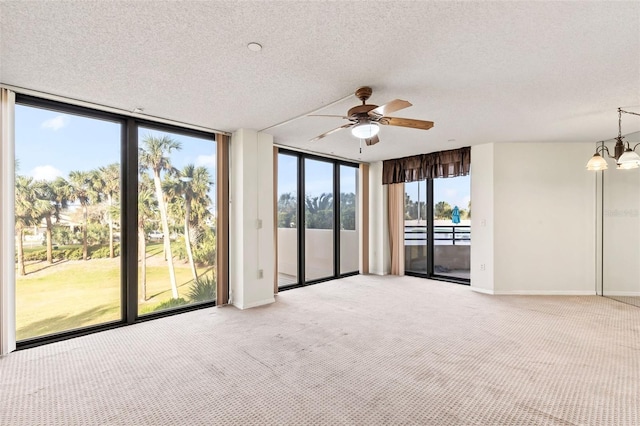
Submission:
M 180 297 L 186 297 L 193 282 L 189 265 L 174 260 L 174 268 Z M 60 261 L 53 265 L 30 262 L 26 271 L 26 276 L 16 277 L 18 340 L 121 319 L 119 257 Z M 152 312 L 169 299 L 171 285 L 162 244 L 149 244 L 147 300 L 139 301 L 138 312 Z

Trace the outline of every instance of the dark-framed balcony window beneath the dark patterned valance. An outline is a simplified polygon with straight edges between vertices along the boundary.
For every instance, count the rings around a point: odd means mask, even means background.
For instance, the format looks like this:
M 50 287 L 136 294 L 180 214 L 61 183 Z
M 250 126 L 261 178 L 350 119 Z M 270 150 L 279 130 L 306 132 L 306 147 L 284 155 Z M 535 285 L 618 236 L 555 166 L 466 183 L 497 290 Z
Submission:
M 405 183 L 405 272 L 468 283 L 469 176 Z

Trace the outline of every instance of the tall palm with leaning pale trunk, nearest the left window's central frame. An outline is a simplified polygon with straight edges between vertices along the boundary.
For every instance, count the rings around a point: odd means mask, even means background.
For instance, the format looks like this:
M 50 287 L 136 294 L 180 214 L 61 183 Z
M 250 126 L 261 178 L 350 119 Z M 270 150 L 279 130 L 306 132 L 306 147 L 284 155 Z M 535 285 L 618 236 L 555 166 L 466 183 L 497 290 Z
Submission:
M 171 154 L 171 151 L 173 150 L 181 149 L 182 145 L 180 142 L 169 136 L 154 137 L 151 135 L 145 136 L 142 139 L 142 143 L 144 144 L 144 147 L 139 150 L 138 161 L 140 163 L 140 169 L 149 170 L 153 176 L 158 209 L 160 210 L 160 221 L 162 222 L 164 248 L 167 253 L 169 266 L 171 294 L 174 299 L 177 299 L 179 297 L 178 286 L 176 284 L 176 274 L 173 268 L 173 255 L 171 253 L 171 242 L 169 240 L 169 221 L 167 219 L 167 208 L 162 192 L 160 175 L 163 173 L 175 173 L 168 155 Z

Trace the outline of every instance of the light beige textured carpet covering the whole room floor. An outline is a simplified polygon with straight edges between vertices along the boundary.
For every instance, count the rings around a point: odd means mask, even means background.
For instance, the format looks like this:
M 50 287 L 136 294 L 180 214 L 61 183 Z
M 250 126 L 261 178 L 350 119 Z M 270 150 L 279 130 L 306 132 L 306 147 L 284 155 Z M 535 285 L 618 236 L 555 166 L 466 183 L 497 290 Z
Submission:
M 637 425 L 640 309 L 354 276 L 0 358 L 1 425 Z

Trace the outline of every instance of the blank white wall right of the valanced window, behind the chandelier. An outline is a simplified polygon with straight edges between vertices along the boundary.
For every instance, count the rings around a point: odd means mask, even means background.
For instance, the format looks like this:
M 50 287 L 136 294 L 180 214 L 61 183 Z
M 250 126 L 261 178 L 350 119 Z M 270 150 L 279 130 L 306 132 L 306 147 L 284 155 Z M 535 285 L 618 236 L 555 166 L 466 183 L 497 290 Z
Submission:
M 477 179 L 490 183 L 482 161 L 492 149 L 490 221 L 487 190 Z M 592 154 L 592 144 L 579 143 L 474 147 L 472 262 L 490 260 L 484 251 L 491 252 L 493 238 L 493 265 L 486 278 L 472 265 L 472 286 L 496 294 L 595 294 L 596 178 L 585 169 Z M 483 231 L 477 220 L 485 217 Z

